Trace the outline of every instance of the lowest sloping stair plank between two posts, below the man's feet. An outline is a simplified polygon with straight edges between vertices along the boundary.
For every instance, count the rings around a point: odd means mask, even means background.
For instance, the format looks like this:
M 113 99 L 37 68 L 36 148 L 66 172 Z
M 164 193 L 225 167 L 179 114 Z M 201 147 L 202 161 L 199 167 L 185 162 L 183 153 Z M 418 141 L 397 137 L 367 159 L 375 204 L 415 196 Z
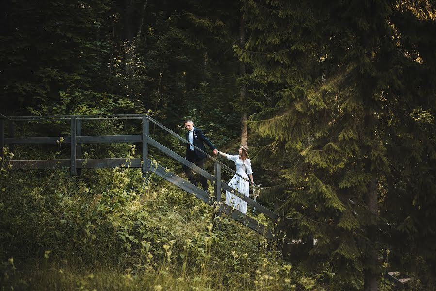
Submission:
M 170 171 L 167 171 L 164 167 L 157 165 L 156 163 L 151 162 L 149 159 L 147 159 L 147 163 L 150 166 L 151 172 L 154 172 L 155 174 L 157 174 L 160 177 L 164 178 L 165 180 L 173 183 L 174 185 L 180 187 L 181 189 L 185 190 L 186 192 L 193 194 L 195 197 L 203 200 L 207 204 L 212 204 L 210 197 L 209 197 L 209 193 L 207 193 L 206 191 L 191 184 L 189 181 L 178 177 L 176 174 L 174 174 Z

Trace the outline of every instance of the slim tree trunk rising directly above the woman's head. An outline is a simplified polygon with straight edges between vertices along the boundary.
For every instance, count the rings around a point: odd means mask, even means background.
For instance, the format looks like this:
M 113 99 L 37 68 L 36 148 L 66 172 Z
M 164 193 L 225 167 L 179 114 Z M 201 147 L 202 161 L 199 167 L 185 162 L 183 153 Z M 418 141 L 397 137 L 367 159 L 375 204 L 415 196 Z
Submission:
M 239 21 L 239 47 L 243 48 L 245 46 L 245 21 L 243 16 L 241 15 L 241 19 Z M 245 64 L 243 62 L 239 63 L 239 76 L 243 78 L 245 76 Z M 245 82 L 242 80 L 241 88 L 240 88 L 240 101 L 241 101 L 241 145 L 247 146 L 247 112 L 246 106 L 247 103 L 247 88 L 245 86 Z

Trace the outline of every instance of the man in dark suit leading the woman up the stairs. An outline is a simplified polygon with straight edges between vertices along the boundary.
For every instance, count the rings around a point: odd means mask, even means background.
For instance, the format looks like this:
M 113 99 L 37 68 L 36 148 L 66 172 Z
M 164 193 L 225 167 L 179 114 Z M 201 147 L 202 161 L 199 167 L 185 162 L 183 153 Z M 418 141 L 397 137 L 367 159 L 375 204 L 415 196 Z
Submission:
M 215 155 L 218 153 L 216 146 L 214 146 L 210 142 L 210 140 L 204 135 L 203 131 L 201 131 L 201 129 L 194 128 L 194 122 L 191 119 L 185 121 L 185 128 L 188 130 L 186 132 L 186 140 L 188 142 L 200 148 L 202 151 L 206 151 L 206 148 L 204 147 L 204 143 L 206 143 L 206 145 L 208 145 L 209 148 L 213 150 L 213 153 Z M 204 169 L 204 158 L 206 157 L 206 154 L 195 149 L 194 146 L 187 144 L 186 160 Z M 188 180 L 195 186 L 198 186 L 197 181 L 195 180 L 195 177 L 192 174 L 192 170 L 185 165 L 182 165 L 182 168 Z M 208 179 L 203 176 L 201 176 L 201 186 L 203 187 L 204 191 L 208 190 Z

